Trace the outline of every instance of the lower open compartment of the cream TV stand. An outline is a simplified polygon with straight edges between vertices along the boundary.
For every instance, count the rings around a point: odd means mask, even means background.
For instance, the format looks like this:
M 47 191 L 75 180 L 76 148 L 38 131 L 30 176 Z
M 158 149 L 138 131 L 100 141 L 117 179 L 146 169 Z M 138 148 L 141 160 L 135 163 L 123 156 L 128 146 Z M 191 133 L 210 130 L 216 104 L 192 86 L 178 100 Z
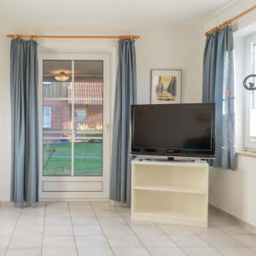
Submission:
M 160 222 L 172 218 L 177 223 L 183 220 L 207 220 L 206 195 L 137 189 L 134 191 L 134 198 L 133 209 L 137 218 L 155 218 Z

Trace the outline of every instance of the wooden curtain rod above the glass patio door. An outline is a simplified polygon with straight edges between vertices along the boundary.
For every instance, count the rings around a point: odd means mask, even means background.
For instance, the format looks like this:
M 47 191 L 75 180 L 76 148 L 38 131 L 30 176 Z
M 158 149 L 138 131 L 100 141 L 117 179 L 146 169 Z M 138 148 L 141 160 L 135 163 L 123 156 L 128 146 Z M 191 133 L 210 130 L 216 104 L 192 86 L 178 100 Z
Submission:
M 8 38 L 12 39 L 39 39 L 39 38 L 49 38 L 49 39 L 127 39 L 127 40 L 137 40 L 140 37 L 136 35 L 119 35 L 119 36 L 46 36 L 46 35 L 7 35 Z

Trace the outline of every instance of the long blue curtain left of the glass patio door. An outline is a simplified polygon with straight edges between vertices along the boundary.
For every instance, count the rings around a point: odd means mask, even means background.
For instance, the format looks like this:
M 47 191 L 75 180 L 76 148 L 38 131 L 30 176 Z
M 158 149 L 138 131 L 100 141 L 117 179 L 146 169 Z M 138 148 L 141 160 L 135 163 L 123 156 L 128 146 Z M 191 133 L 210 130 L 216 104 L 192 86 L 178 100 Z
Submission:
M 38 44 L 13 39 L 10 50 L 11 201 L 38 201 Z

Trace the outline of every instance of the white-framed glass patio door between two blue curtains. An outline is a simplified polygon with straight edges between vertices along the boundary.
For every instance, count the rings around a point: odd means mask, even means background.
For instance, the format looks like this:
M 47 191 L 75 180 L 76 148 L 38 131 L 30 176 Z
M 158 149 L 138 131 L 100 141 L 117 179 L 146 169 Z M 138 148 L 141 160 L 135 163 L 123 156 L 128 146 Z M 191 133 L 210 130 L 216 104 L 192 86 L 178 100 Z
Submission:
M 71 57 L 41 61 L 40 197 L 108 198 L 108 58 Z

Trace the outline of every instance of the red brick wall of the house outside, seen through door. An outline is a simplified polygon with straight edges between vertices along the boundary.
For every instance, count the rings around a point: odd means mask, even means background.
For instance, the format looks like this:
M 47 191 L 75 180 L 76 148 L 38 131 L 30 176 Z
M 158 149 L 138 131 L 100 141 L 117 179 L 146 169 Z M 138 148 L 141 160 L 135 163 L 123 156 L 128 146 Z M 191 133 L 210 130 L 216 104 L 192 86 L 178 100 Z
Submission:
M 71 129 L 71 104 L 67 101 L 44 100 L 44 107 L 51 108 L 51 127 L 47 130 Z M 75 109 L 86 109 L 86 124 L 90 129 L 96 129 L 96 125 L 102 125 L 102 105 L 76 104 Z

